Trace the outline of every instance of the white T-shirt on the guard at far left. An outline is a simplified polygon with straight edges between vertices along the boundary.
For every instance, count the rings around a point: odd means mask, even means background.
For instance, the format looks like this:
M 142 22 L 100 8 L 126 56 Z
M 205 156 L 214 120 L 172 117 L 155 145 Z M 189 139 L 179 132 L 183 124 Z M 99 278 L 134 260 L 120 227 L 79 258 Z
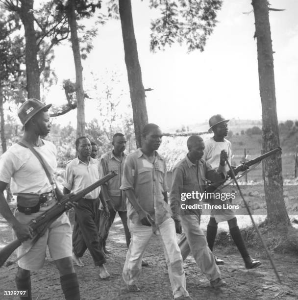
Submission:
M 53 143 L 42 140 L 43 146 L 34 149 L 43 157 L 50 167 L 53 175 L 57 168 L 56 147 Z M 42 194 L 50 192 L 52 187 L 46 172 L 29 150 L 19 144 L 10 147 L 0 157 L 0 181 L 9 182 L 11 179 L 11 192 Z

